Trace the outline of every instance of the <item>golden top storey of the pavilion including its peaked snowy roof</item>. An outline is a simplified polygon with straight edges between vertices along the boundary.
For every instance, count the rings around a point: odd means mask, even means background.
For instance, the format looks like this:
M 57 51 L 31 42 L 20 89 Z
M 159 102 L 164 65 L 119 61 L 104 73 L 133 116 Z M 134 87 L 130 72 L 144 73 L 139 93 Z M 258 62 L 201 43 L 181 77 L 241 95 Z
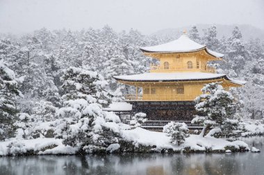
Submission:
M 209 50 L 207 46 L 192 41 L 185 34 L 172 42 L 142 47 L 140 50 L 145 55 L 154 57 L 159 61 L 159 64 L 151 64 L 151 73 L 215 73 L 215 68 L 208 66 L 208 62 L 222 60 L 224 57 L 223 54 Z

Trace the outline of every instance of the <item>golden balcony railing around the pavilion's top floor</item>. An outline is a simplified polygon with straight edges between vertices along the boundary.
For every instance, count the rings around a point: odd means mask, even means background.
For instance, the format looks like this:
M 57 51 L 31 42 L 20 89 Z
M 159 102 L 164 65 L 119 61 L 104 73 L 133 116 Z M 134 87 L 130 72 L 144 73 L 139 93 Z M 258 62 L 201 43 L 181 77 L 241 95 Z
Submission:
M 177 64 L 171 65 L 168 68 L 164 68 L 164 66 L 160 66 L 158 64 L 151 64 L 150 71 L 151 73 L 159 73 L 159 72 L 174 72 L 174 71 L 204 71 L 209 73 L 215 73 L 215 68 L 207 65 L 192 65 L 188 66 L 187 64 Z

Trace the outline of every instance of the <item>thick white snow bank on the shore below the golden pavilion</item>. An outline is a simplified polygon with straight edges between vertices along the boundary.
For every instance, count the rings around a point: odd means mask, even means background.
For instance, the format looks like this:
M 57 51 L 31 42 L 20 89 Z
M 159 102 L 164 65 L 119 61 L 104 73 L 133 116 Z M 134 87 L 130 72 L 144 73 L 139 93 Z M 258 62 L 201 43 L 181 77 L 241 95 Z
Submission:
M 249 150 L 248 145 L 242 141 L 229 142 L 222 138 L 214 138 L 211 136 L 199 136 L 199 135 L 190 135 L 190 137 L 185 138 L 185 142 L 180 145 L 173 145 L 170 143 L 170 138 L 166 136 L 166 133 L 160 133 L 156 131 L 148 131 L 142 128 L 135 128 L 132 130 L 123 131 L 123 137 L 126 140 L 133 141 L 135 147 L 140 145 L 145 146 L 156 146 L 156 149 L 174 149 L 182 150 L 185 148 L 192 149 L 194 151 L 224 151 L 225 147 L 234 147 L 235 149 L 240 149 L 241 147 Z

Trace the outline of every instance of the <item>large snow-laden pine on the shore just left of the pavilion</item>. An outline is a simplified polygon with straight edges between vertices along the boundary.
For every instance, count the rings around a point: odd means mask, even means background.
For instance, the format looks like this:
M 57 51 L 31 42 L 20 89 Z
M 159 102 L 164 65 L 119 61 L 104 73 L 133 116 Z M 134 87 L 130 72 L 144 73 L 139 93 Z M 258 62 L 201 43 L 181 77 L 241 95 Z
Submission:
M 110 144 L 117 143 L 120 133 L 116 122 L 120 120 L 114 113 L 102 110 L 110 100 L 104 78 L 97 72 L 70 67 L 61 80 L 64 107 L 58 110 L 58 116 L 65 118 L 65 145 L 92 152 L 106 151 Z

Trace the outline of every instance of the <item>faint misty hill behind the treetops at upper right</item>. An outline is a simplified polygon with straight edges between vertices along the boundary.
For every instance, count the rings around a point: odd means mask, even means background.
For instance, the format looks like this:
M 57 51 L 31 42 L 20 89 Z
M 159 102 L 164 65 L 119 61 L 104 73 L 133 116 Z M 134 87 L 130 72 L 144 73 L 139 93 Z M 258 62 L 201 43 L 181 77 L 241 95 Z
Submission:
M 199 34 L 202 36 L 204 35 L 203 29 L 209 28 L 212 26 L 211 24 L 197 24 L 196 25 Z M 250 25 L 221 25 L 221 24 L 215 24 L 217 28 L 217 37 L 221 39 L 223 36 L 229 37 L 231 36 L 232 30 L 235 26 L 238 26 L 240 28 L 242 37 L 245 40 L 248 40 L 250 38 L 259 38 L 262 41 L 264 41 L 264 30 L 261 30 L 259 28 L 256 28 L 254 26 Z M 158 30 L 156 33 L 153 33 L 152 35 L 156 35 L 156 37 L 170 37 L 170 38 L 178 38 L 182 33 L 183 30 L 190 30 L 192 26 L 185 26 L 185 27 L 179 27 L 179 28 L 166 28 L 163 30 Z

